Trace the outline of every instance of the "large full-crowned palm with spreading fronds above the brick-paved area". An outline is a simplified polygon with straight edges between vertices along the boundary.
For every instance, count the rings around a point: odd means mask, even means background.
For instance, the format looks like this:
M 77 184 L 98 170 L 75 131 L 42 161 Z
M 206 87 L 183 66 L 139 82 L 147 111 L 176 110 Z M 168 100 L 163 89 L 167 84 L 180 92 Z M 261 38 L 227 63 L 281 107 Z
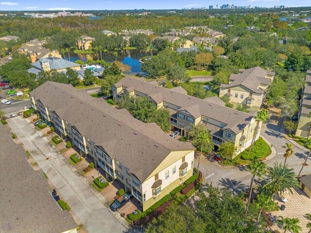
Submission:
M 298 188 L 298 180 L 293 170 L 294 168 L 288 168 L 287 165 L 283 167 L 282 163 L 277 162 L 274 167 L 268 167 L 268 177 L 265 179 L 267 183 L 264 187 L 268 186 L 272 190 L 271 196 L 275 195 L 276 198 L 276 193 L 286 188 Z

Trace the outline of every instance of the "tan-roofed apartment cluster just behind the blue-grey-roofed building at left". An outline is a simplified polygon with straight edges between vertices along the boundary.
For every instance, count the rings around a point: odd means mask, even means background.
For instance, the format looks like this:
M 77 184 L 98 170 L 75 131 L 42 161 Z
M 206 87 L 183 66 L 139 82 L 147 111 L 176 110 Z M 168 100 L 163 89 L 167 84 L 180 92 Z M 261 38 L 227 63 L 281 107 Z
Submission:
M 49 50 L 44 48 L 44 41 L 33 39 L 29 42 L 22 44 L 18 49 L 20 53 L 29 54 L 31 62 L 36 62 L 41 58 L 58 57 L 62 58 L 58 50 Z

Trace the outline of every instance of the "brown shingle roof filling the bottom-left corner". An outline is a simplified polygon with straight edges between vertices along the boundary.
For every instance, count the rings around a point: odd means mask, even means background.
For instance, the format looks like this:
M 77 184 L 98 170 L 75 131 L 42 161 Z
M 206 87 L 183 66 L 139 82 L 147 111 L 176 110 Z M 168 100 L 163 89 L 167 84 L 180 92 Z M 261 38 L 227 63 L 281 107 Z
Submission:
M 23 147 L 10 135 L 8 127 L 0 124 L 0 232 L 60 233 L 76 228 L 69 212 L 52 198 L 42 172 L 30 166 Z

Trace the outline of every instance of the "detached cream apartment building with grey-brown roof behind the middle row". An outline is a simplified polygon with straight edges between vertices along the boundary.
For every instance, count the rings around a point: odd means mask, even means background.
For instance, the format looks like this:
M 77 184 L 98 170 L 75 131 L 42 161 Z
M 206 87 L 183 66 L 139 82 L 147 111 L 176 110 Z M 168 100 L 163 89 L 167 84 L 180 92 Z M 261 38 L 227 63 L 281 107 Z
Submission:
M 227 96 L 234 107 L 241 104 L 258 111 L 274 75 L 260 67 L 239 69 L 239 74 L 231 74 L 229 84 L 220 85 L 219 97 Z

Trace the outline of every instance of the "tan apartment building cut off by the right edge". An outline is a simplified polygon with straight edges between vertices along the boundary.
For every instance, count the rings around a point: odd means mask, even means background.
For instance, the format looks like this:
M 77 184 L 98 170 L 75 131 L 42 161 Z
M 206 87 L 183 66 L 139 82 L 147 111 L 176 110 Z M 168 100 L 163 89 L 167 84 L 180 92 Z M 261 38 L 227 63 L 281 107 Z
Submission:
M 296 136 L 308 137 L 311 127 L 311 70 L 307 70 L 306 84 L 301 94 Z

